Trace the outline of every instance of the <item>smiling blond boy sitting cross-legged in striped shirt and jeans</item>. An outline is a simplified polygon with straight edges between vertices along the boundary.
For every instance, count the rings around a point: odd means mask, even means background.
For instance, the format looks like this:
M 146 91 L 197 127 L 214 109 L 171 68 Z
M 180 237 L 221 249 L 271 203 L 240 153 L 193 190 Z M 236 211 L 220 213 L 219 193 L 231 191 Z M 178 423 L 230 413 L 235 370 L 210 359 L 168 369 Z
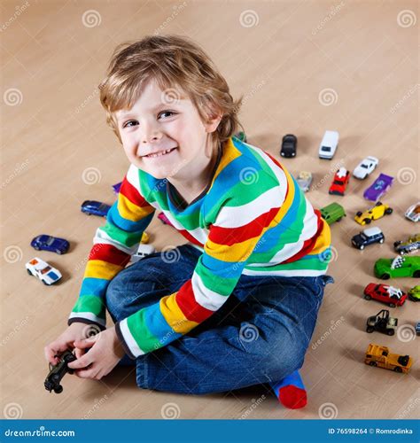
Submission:
M 240 100 L 195 43 L 117 48 L 99 89 L 131 165 L 47 360 L 74 347 L 78 377 L 131 359 L 143 388 L 269 383 L 285 406 L 305 406 L 298 369 L 332 281 L 327 223 L 283 165 L 232 137 Z M 189 243 L 125 268 L 156 210 Z M 101 332 L 86 338 L 86 324 Z

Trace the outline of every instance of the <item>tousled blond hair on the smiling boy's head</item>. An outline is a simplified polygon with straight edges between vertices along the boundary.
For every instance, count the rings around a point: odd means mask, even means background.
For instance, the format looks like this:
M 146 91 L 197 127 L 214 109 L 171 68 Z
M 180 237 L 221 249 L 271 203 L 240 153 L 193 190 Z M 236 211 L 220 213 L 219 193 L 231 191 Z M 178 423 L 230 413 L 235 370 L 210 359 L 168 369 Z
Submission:
M 205 51 L 183 36 L 148 35 L 138 42 L 117 46 L 99 85 L 106 122 L 120 142 L 113 113 L 131 108 L 149 80 L 168 91 L 169 97 L 173 88 L 182 89 L 203 122 L 221 113 L 222 120 L 213 134 L 214 144 L 222 144 L 239 127 L 243 128 L 237 119 L 242 98 L 234 101 L 228 83 Z

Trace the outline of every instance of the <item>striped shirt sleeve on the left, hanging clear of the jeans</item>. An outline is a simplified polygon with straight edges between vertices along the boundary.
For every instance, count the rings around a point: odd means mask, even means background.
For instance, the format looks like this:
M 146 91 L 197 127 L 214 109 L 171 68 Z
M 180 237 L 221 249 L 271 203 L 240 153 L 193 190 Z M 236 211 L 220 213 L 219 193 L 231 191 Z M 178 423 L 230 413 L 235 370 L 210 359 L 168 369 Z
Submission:
M 105 329 L 106 287 L 136 253 L 155 208 L 140 193 L 138 169 L 130 166 L 105 225 L 93 239 L 82 287 L 68 324 L 93 323 Z

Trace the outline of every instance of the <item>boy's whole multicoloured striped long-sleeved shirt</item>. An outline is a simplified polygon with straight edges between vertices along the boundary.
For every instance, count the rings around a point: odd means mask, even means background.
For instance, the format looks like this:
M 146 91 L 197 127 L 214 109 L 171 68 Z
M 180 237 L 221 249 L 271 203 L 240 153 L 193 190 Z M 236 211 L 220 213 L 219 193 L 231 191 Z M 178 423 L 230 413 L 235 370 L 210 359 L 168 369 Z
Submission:
M 328 224 L 284 165 L 230 138 L 211 182 L 191 204 L 167 179 L 131 165 L 105 225 L 98 228 L 68 323 L 105 328 L 105 291 L 139 245 L 156 210 L 202 254 L 191 279 L 158 303 L 116 323 L 131 358 L 166 346 L 222 307 L 241 275 L 320 276 L 331 259 Z

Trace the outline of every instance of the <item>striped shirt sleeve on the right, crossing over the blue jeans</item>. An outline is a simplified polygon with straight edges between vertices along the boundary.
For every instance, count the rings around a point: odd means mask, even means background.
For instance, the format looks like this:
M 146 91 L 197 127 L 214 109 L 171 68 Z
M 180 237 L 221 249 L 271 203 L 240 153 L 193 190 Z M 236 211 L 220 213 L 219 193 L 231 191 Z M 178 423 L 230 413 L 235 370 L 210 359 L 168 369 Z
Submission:
M 222 307 L 261 236 L 276 224 L 282 196 L 284 190 L 274 186 L 245 205 L 236 198 L 224 200 L 191 279 L 179 291 L 116 323 L 129 357 L 167 346 Z

